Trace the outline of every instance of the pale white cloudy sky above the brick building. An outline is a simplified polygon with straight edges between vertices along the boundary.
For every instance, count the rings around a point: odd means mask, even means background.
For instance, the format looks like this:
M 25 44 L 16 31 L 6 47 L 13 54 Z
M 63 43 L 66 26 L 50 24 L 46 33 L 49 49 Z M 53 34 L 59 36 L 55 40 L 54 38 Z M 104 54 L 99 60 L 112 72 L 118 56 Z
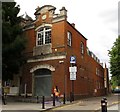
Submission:
M 19 15 L 25 12 L 35 19 L 35 9 L 53 5 L 56 12 L 64 6 L 67 20 L 86 37 L 87 46 L 109 68 L 108 50 L 118 37 L 119 0 L 15 0 L 20 5 Z

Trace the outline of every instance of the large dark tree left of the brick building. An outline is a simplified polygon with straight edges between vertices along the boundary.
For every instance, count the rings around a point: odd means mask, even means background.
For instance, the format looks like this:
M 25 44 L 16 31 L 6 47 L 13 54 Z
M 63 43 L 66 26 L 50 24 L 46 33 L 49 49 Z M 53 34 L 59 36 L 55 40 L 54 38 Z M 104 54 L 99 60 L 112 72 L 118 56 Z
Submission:
M 22 51 L 25 49 L 20 11 L 16 2 L 2 2 L 2 79 L 12 79 L 25 62 Z

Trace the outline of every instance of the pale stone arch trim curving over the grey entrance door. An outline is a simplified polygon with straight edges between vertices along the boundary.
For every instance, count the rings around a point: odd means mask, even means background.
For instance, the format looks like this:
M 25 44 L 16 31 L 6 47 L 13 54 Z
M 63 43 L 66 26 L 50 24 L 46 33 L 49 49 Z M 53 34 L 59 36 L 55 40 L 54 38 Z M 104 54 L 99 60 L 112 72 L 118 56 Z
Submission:
M 43 64 L 43 65 L 36 65 L 36 66 L 34 66 L 32 69 L 30 69 L 30 73 L 33 73 L 37 69 L 42 69 L 42 68 L 49 69 L 50 71 L 55 71 L 55 67 L 53 67 L 52 65 Z

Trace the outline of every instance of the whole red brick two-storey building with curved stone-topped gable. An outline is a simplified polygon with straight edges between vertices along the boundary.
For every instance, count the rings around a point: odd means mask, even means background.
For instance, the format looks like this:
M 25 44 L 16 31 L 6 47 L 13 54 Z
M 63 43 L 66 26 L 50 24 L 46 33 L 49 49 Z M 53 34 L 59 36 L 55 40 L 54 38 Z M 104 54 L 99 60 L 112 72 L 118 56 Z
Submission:
M 67 97 L 73 90 L 75 97 L 104 95 L 105 69 L 87 48 L 87 39 L 67 21 L 65 7 L 60 14 L 55 10 L 51 5 L 38 7 L 36 20 L 27 16 L 22 23 L 28 42 L 24 52 L 27 63 L 20 72 L 20 93 L 50 96 L 53 87 L 58 86 Z M 77 67 L 74 83 L 69 72 L 71 56 Z

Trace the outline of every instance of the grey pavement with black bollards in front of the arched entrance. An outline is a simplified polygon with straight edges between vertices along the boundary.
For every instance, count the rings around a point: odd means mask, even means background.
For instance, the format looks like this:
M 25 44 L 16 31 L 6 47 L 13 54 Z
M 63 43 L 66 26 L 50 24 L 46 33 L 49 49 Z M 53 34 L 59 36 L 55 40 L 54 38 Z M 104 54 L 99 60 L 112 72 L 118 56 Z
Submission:
M 66 102 L 66 104 L 70 104 L 69 101 Z M 59 107 L 59 106 L 63 106 L 65 104 L 63 104 L 63 102 L 58 102 L 55 101 L 55 106 L 53 106 L 53 101 L 45 101 L 44 104 L 44 109 L 43 109 L 43 105 L 42 103 L 37 103 L 34 101 L 33 102 L 16 102 L 16 101 L 11 101 L 11 100 L 7 100 L 7 104 L 3 105 L 2 104 L 2 112 L 6 112 L 6 110 L 34 110 L 35 112 L 37 111 L 45 111 L 45 110 L 49 110 L 55 107 Z

